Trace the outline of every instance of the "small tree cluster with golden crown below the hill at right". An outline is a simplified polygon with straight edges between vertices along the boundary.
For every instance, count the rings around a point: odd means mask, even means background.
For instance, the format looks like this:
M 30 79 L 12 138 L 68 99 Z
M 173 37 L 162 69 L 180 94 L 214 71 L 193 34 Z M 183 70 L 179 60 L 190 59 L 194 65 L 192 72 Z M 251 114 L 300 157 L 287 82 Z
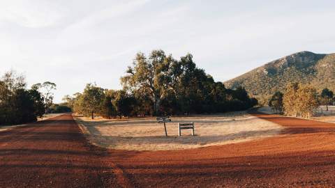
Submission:
M 276 92 L 269 100 L 269 107 L 287 116 L 310 118 L 320 104 L 327 106 L 334 101 L 334 93 L 328 88 L 318 95 L 315 88 L 308 85 L 288 84 L 285 93 Z

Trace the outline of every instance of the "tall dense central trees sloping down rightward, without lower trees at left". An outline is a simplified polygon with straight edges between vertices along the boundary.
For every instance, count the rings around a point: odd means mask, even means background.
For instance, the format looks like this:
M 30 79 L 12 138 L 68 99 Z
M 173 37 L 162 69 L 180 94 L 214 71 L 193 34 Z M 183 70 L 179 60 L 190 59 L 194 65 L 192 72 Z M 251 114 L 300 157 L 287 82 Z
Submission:
M 242 87 L 233 91 L 215 82 L 204 70 L 197 68 L 191 54 L 177 61 L 162 50 L 152 51 L 149 58 L 139 53 L 126 73 L 121 78 L 124 89 L 141 101 L 137 105 L 144 106 L 145 112 L 154 115 L 241 110 L 257 102 L 251 100 Z M 151 109 L 148 104 L 152 105 Z

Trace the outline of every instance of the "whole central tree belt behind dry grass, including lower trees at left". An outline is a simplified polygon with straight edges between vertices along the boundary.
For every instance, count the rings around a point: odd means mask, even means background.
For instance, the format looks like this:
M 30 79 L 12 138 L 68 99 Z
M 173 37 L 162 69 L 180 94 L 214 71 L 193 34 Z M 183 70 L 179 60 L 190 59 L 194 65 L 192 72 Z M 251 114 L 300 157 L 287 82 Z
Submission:
M 126 75 L 122 90 L 106 90 L 87 84 L 82 93 L 64 100 L 73 111 L 90 115 L 158 116 L 161 114 L 236 111 L 257 104 L 244 88 L 231 90 L 197 68 L 193 56 L 176 60 L 162 50 L 149 56 L 138 53 Z

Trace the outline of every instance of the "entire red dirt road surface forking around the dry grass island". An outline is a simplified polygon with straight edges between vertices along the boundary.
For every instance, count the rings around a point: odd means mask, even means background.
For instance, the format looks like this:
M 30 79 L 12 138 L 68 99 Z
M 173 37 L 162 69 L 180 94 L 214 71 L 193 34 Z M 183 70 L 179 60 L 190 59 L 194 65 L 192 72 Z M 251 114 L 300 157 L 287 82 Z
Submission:
M 70 115 L 0 132 L 0 187 L 335 187 L 335 125 L 256 114 L 267 139 L 192 150 L 103 150 Z

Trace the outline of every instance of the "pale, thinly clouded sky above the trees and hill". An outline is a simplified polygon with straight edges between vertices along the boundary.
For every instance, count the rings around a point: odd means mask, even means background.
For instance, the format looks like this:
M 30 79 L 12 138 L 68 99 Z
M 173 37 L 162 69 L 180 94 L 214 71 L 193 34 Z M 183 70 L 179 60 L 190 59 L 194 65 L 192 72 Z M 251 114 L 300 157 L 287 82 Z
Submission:
M 121 88 L 137 52 L 163 49 L 227 81 L 276 58 L 335 52 L 335 1 L 0 0 L 0 75 Z

